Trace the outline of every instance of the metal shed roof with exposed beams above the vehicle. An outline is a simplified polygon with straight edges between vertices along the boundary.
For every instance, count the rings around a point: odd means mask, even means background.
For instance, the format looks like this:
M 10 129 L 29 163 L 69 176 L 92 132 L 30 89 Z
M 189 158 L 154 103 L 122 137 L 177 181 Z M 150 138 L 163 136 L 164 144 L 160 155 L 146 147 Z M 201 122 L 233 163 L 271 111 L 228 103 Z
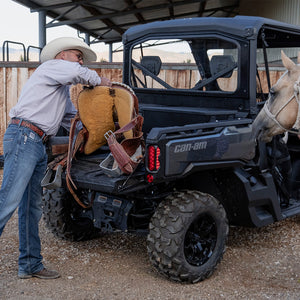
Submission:
M 233 17 L 240 0 L 13 0 L 52 18 L 46 28 L 68 25 L 96 42 L 118 42 L 130 27 L 159 20 Z

